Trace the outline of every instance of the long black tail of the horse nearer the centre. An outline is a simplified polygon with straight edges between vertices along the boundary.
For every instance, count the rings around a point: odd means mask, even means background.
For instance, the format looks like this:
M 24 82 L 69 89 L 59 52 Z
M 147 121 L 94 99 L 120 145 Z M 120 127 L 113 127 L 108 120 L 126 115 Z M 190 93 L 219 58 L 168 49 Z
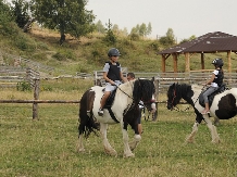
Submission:
M 90 132 L 95 132 L 97 135 L 97 130 L 99 130 L 99 123 L 97 123 L 92 115 L 92 103 L 95 99 L 95 92 L 91 90 L 87 90 L 82 99 L 79 105 L 79 126 L 78 131 L 79 135 L 84 134 L 86 138 L 89 137 Z

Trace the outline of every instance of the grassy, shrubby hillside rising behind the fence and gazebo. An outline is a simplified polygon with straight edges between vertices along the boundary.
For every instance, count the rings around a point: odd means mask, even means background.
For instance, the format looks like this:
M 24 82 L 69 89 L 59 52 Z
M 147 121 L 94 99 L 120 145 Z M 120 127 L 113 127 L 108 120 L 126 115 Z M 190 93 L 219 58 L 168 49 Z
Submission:
M 2 36 L 0 50 L 4 62 L 12 65 L 13 59 L 8 59 L 5 54 L 22 56 L 30 61 L 39 62 L 54 71 L 51 75 L 90 73 L 101 69 L 103 63 L 108 61 L 107 52 L 110 48 L 117 48 L 122 55 L 118 62 L 129 72 L 161 72 L 161 56 L 157 52 L 163 50 L 159 40 L 139 39 L 130 40 L 128 37 L 116 36 L 117 42 L 114 46 L 108 46 L 101 34 L 90 34 L 87 37 L 75 39 L 66 36 L 66 41 L 60 46 L 60 35 L 57 31 L 33 26 L 28 34 L 15 29 L 11 36 Z M 226 58 L 226 53 L 205 54 L 205 67 L 214 58 Z M 236 55 L 233 68 L 237 68 Z M 200 55 L 195 54 L 190 60 L 191 69 L 200 69 Z M 184 72 L 184 55 L 178 58 L 178 71 Z M 173 59 L 166 61 L 166 71 L 173 71 Z

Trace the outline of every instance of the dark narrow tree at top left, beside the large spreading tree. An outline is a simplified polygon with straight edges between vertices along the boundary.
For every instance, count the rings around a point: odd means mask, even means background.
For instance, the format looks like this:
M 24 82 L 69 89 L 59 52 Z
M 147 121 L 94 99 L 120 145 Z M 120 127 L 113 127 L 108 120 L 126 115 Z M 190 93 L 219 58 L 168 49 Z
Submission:
M 12 12 L 15 16 L 15 23 L 20 28 L 24 28 L 24 26 L 29 21 L 28 14 L 28 2 L 25 0 L 13 0 Z

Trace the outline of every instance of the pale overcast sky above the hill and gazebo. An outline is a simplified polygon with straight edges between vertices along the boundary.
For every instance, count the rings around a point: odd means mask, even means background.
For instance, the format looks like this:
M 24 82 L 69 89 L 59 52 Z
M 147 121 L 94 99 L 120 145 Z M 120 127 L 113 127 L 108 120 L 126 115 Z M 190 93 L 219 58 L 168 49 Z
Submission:
M 109 18 L 130 33 L 137 24 L 151 23 L 150 38 L 165 36 L 172 28 L 177 41 L 213 31 L 237 36 L 237 0 L 88 0 L 96 21 Z

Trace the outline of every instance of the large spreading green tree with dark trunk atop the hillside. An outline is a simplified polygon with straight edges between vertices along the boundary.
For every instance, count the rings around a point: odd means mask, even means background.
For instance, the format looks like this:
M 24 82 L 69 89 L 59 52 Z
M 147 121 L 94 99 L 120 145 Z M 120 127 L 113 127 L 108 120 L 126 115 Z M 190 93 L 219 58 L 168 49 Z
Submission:
M 30 9 L 39 24 L 60 31 L 62 45 L 65 34 L 78 38 L 95 29 L 95 15 L 86 4 L 87 0 L 32 0 Z

